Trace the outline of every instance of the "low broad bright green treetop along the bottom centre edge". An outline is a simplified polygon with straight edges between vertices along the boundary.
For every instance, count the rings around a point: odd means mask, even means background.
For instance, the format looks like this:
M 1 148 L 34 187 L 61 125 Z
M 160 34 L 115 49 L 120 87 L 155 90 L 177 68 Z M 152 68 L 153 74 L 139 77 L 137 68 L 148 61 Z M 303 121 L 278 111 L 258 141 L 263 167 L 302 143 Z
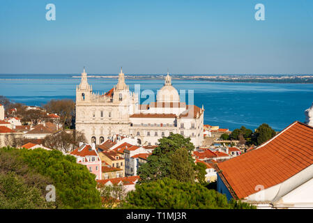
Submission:
M 240 201 L 239 201 L 240 202 Z M 157 209 L 216 209 L 216 208 L 254 208 L 247 203 L 227 202 L 226 196 L 215 190 L 208 190 L 199 183 L 179 182 L 163 178 L 136 185 L 129 192 L 124 208 Z

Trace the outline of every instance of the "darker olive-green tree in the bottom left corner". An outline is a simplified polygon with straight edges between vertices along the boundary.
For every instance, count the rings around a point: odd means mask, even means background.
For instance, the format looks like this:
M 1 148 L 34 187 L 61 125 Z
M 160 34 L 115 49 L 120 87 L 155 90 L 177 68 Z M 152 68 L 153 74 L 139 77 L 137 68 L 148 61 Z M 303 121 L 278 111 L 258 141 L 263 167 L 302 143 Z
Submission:
M 30 169 L 15 149 L 0 149 L 0 208 L 55 208 L 45 201 L 52 180 Z

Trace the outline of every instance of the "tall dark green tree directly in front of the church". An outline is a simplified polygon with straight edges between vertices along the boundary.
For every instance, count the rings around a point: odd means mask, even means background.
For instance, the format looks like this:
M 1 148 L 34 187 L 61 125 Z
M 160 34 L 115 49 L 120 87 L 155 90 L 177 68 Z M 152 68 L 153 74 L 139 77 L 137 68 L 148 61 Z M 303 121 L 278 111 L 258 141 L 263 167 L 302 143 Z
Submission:
M 148 156 L 147 162 L 139 167 L 139 182 L 144 183 L 165 177 L 175 178 L 176 174 L 174 174 L 172 168 L 174 161 L 172 155 L 179 148 L 184 148 L 188 152 L 187 160 L 183 160 L 185 156 L 181 154 L 180 160 L 184 162 L 183 164 L 186 164 L 186 162 L 193 164 L 191 151 L 194 150 L 194 145 L 190 142 L 190 138 L 185 138 L 181 134 L 170 133 L 169 137 L 159 139 L 159 146 L 153 150 L 152 155 Z M 178 160 L 175 161 L 178 162 Z M 179 166 L 183 164 L 179 164 Z M 176 165 L 178 164 L 176 163 Z M 182 179 L 180 178 L 180 180 Z M 188 181 L 188 179 L 185 180 Z

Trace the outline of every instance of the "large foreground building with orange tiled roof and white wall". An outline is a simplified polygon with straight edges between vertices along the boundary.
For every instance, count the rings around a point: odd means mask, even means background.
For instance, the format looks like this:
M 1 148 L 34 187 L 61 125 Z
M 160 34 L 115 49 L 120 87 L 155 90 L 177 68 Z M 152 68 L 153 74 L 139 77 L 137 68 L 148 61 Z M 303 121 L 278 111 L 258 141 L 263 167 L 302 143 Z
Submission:
M 217 191 L 257 208 L 313 208 L 313 127 L 298 121 L 217 164 Z

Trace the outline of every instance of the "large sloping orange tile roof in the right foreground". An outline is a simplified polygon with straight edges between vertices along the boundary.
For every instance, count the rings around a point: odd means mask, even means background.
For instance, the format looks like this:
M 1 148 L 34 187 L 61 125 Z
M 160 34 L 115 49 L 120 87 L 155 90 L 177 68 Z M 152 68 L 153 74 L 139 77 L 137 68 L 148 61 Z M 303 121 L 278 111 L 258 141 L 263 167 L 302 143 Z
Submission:
M 313 128 L 298 121 L 258 148 L 218 164 L 239 199 L 282 183 L 313 164 Z

